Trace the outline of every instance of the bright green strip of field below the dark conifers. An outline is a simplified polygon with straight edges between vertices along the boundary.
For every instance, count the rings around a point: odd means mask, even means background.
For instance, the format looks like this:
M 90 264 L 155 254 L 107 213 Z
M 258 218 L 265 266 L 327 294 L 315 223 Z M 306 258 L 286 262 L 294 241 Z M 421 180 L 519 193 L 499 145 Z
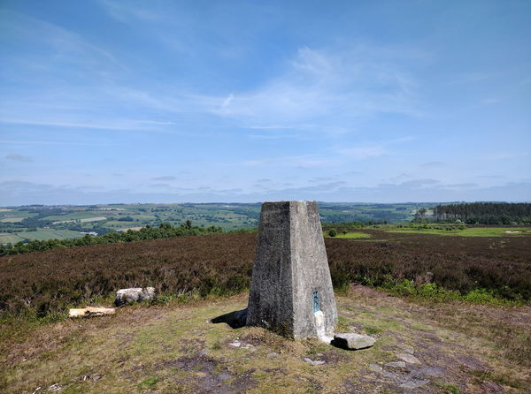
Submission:
M 402 232 L 414 234 L 447 235 L 459 237 L 508 237 L 531 236 L 531 227 L 471 227 L 464 230 L 436 230 L 436 229 L 408 229 L 408 228 L 382 228 L 388 232 Z

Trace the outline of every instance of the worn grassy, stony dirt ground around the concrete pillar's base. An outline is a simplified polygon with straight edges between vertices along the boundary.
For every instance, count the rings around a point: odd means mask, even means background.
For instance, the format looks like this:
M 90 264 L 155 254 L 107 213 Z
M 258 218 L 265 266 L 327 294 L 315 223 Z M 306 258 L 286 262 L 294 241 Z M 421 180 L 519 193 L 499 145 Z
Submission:
M 4 327 L 12 334 L 0 345 L 0 390 L 523 393 L 531 387 L 530 307 L 419 304 L 364 286 L 336 299 L 337 331 L 373 335 L 372 348 L 351 352 L 211 322 L 246 307 L 247 294 L 135 305 L 112 317 Z

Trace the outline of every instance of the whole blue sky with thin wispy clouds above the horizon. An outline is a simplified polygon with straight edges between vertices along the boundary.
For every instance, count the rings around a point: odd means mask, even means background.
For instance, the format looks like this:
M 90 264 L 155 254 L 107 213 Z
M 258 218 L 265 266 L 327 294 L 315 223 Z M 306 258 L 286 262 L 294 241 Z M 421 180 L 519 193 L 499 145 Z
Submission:
M 531 2 L 0 7 L 0 205 L 531 201 Z

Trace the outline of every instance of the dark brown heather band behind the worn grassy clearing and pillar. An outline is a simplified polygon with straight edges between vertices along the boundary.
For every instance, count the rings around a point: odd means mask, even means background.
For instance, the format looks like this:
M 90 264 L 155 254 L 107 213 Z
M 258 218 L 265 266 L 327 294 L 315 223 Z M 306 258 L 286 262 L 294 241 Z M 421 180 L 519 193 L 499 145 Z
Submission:
M 358 283 L 434 300 L 531 299 L 527 235 L 337 230 L 364 231 L 370 239 L 326 239 L 336 290 Z M 4 317 L 62 315 L 68 307 L 111 299 L 124 287 L 154 286 L 157 302 L 235 294 L 249 287 L 255 240 L 255 233 L 215 233 L 0 257 L 0 311 Z

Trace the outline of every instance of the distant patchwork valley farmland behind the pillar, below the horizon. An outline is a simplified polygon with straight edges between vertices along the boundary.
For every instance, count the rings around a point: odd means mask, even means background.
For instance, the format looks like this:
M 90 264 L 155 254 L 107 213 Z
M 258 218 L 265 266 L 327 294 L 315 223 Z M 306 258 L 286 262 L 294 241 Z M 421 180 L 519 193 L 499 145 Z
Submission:
M 412 212 L 429 204 L 355 204 L 319 202 L 319 215 L 323 223 L 376 222 L 404 223 L 412 220 Z M 217 226 L 223 230 L 258 227 L 260 203 L 218 204 L 112 204 L 87 206 L 26 206 L 0 208 L 0 233 L 9 232 L 0 243 L 13 243 L 22 239 L 35 239 L 28 229 L 96 231 L 103 234 L 126 227 L 157 227 L 162 223 L 181 225 L 186 221 L 201 227 Z M 129 216 L 133 221 L 122 221 Z M 28 220 L 22 219 L 27 218 Z M 47 234 L 47 233 L 45 233 Z M 66 233 L 64 233 L 66 234 Z M 64 235 L 63 234 L 63 235 Z M 42 239 L 38 235 L 38 239 Z M 42 235 L 42 237 L 45 237 Z M 354 236 L 349 236 L 354 237 Z M 61 237 L 63 238 L 63 236 Z M 48 237 L 46 236 L 46 239 Z

